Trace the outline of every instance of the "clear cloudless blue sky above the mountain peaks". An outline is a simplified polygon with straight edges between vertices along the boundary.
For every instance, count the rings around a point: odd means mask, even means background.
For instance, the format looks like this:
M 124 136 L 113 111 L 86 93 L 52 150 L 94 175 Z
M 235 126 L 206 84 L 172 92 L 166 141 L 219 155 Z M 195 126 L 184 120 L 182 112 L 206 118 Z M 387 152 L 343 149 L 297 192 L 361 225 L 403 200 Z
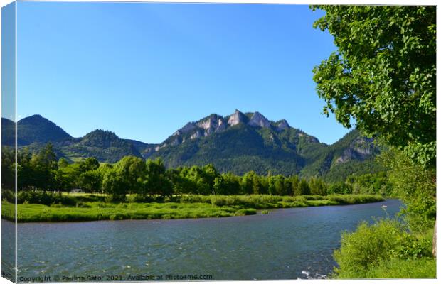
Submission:
M 336 50 L 306 5 L 19 2 L 17 116 L 78 137 L 159 143 L 188 121 L 260 111 L 334 143 L 312 68 Z

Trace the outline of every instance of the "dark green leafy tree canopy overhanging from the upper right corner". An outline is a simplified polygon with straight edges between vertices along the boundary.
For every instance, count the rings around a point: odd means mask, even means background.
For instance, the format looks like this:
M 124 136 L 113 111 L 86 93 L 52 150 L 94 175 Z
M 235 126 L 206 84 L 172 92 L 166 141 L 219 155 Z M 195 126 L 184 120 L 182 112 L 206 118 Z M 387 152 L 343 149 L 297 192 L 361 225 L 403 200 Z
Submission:
M 435 167 L 436 8 L 312 6 L 338 50 L 314 67 L 324 113 Z

